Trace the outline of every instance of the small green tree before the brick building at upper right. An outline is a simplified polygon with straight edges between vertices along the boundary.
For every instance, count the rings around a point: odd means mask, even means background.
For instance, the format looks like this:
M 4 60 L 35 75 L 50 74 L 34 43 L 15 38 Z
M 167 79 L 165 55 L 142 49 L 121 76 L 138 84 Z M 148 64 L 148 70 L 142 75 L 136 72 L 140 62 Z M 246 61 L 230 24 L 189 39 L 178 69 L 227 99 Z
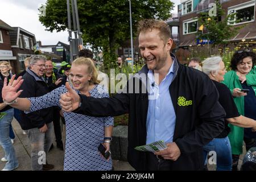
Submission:
M 213 44 L 225 44 L 225 40 L 232 38 L 237 34 L 237 30 L 242 26 L 232 26 L 231 20 L 234 19 L 235 14 L 225 15 L 221 4 L 216 1 L 216 16 L 210 16 L 209 12 L 200 13 L 198 18 L 199 27 L 204 25 L 203 31 L 197 31 L 198 39 L 212 40 Z

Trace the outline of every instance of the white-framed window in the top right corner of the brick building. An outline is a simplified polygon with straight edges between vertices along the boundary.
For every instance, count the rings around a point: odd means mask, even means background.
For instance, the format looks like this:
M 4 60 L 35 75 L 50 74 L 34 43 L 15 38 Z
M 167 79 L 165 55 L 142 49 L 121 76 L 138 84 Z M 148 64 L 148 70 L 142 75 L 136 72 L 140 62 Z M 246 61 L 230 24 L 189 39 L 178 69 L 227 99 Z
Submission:
M 234 14 L 233 19 L 229 20 L 228 24 L 242 24 L 254 22 L 254 9 L 255 9 L 255 1 L 250 1 L 243 3 L 242 5 L 238 5 L 228 9 L 229 14 Z

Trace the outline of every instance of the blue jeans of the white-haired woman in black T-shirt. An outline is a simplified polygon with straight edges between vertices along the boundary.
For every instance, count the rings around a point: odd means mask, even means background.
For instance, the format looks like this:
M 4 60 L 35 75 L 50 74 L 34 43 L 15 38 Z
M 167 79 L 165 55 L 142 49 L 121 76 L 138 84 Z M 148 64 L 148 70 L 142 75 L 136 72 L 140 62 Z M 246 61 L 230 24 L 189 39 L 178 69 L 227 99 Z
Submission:
M 215 151 L 217 159 L 217 171 L 231 171 L 232 170 L 232 152 L 229 138 L 214 138 L 210 141 L 204 149 L 204 159 L 207 160 L 208 152 Z

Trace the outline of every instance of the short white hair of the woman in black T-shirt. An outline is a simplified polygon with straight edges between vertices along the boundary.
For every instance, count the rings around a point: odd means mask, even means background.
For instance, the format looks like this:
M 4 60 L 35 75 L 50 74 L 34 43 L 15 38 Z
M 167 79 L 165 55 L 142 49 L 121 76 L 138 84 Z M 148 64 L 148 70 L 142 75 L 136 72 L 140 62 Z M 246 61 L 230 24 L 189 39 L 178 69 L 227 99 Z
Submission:
M 218 72 L 220 69 L 220 62 L 222 58 L 220 56 L 208 57 L 203 61 L 202 71 L 207 75 L 210 75 L 210 72 Z

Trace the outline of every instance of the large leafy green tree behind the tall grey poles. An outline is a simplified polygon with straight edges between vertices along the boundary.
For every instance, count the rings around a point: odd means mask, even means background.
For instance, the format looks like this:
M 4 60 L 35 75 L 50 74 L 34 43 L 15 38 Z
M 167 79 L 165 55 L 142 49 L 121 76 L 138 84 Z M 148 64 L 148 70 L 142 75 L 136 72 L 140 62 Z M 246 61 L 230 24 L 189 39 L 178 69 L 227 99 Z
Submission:
M 130 38 L 130 15 L 128 0 L 77 0 L 82 39 L 94 49 L 101 47 L 107 67 L 115 64 L 115 50 Z M 137 23 L 143 18 L 166 20 L 174 3 L 170 0 L 131 0 L 133 35 Z M 71 10 L 72 13 L 72 10 Z M 72 19 L 72 15 L 71 15 Z M 46 16 L 39 17 L 48 31 L 62 31 L 68 28 L 67 2 L 48 0 Z

